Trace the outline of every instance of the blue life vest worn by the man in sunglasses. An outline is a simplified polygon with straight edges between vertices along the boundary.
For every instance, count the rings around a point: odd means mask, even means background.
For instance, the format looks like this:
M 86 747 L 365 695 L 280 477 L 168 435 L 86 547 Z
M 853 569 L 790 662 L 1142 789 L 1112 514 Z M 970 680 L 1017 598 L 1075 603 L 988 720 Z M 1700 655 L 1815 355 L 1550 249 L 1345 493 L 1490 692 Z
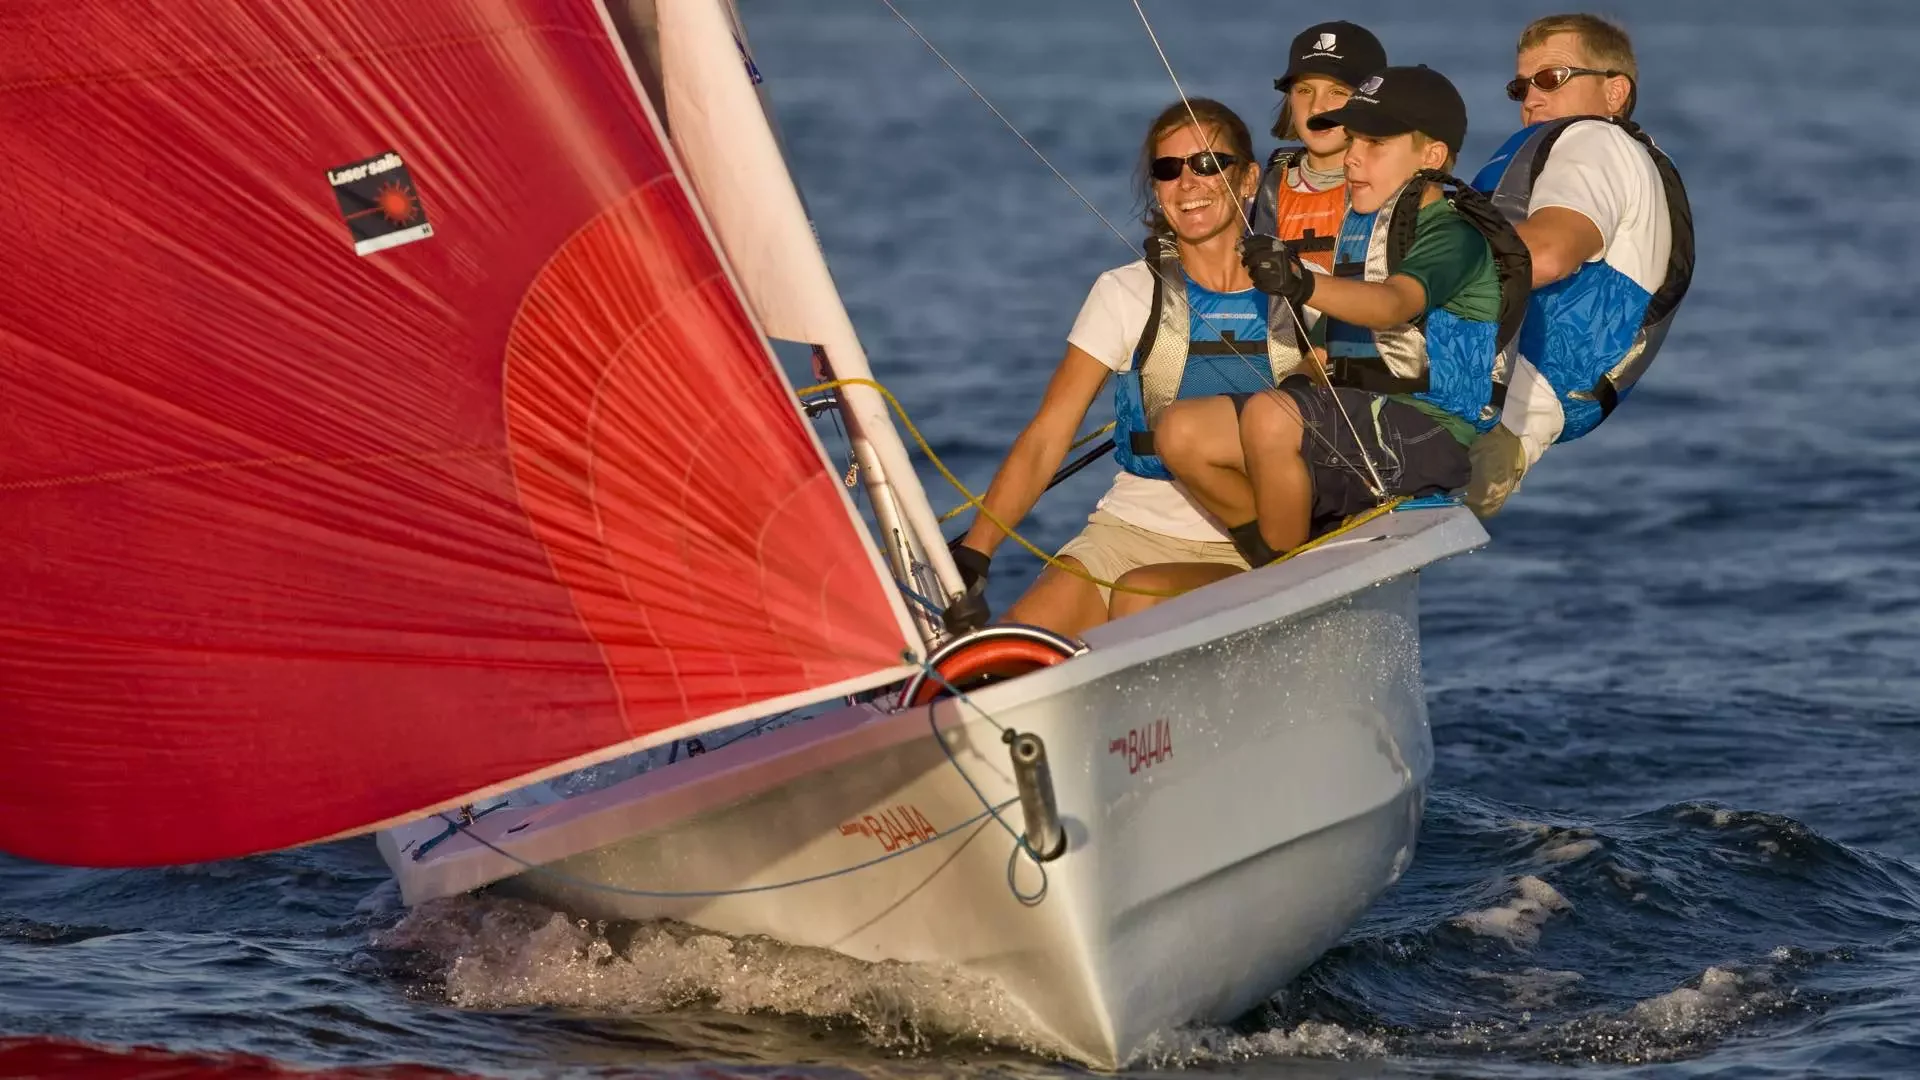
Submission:
M 1488 192 L 1507 221 L 1526 221 L 1534 181 L 1553 142 L 1569 127 L 1590 119 L 1613 123 L 1647 148 L 1667 194 L 1672 254 L 1667 258 L 1667 279 L 1651 294 L 1605 259 L 1582 263 L 1572 277 L 1534 290 L 1519 352 L 1559 396 L 1567 413 L 1559 442 L 1594 430 L 1626 400 L 1667 340 L 1674 311 L 1693 281 L 1693 209 L 1686 186 L 1672 160 L 1634 121 L 1584 115 L 1524 127 L 1480 169 L 1473 186 Z

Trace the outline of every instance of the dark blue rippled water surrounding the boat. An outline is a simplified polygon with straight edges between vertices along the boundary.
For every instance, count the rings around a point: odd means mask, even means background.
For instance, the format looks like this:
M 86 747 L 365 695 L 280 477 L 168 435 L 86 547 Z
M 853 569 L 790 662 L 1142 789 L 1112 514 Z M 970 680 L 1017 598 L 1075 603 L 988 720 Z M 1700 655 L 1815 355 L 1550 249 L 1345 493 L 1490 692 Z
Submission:
M 1171 98 L 1131 6 L 906 8 L 1131 238 L 1127 167 Z M 1517 123 L 1500 85 L 1540 8 L 1465 8 L 1340 15 L 1455 77 L 1473 165 Z M 1628 407 L 1546 459 L 1488 550 L 1425 577 L 1438 765 L 1413 871 L 1265 1007 L 1148 1068 L 1920 1070 L 1920 21 L 1611 10 L 1693 194 L 1693 294 Z M 1188 92 L 1256 127 L 1311 19 L 1148 12 Z M 877 0 L 745 13 L 876 369 L 985 484 L 1129 248 Z M 1031 534 L 1066 540 L 1108 475 Z M 998 605 L 1033 571 L 998 559 Z M 937 972 L 488 899 L 405 915 L 371 842 L 179 871 L 0 861 L 0 1036 L 480 1074 L 1060 1068 L 996 1030 Z

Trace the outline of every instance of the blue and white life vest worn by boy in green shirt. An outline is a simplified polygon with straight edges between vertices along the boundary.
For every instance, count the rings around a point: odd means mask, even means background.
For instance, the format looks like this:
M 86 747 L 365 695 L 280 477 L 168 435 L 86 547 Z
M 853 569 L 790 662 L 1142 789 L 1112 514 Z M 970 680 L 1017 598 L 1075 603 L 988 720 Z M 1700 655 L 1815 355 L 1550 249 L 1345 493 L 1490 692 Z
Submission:
M 1446 173 L 1421 171 L 1380 209 L 1348 209 L 1340 221 L 1332 273 L 1369 282 L 1392 277 L 1413 248 L 1427 184 L 1440 184 L 1459 217 L 1486 236 L 1500 277 L 1500 321 L 1463 319 L 1444 307 L 1384 331 L 1329 319 L 1329 375 L 1336 386 L 1411 394 L 1486 430 L 1500 419 L 1505 402 L 1505 350 L 1519 334 L 1532 281 L 1526 244 L 1486 196 Z

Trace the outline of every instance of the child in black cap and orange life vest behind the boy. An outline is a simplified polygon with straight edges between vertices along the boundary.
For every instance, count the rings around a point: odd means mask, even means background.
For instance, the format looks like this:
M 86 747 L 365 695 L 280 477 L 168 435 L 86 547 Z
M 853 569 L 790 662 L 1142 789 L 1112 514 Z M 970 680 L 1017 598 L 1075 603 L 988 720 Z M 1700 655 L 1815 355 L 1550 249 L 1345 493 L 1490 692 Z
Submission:
M 1281 146 L 1260 179 L 1254 233 L 1286 240 L 1304 261 L 1332 271 L 1334 234 L 1346 215 L 1346 129 L 1313 131 L 1308 121 L 1354 96 L 1367 75 L 1386 67 L 1386 50 L 1365 27 L 1315 23 L 1294 38 L 1286 73 L 1273 81 L 1283 94 L 1273 136 Z

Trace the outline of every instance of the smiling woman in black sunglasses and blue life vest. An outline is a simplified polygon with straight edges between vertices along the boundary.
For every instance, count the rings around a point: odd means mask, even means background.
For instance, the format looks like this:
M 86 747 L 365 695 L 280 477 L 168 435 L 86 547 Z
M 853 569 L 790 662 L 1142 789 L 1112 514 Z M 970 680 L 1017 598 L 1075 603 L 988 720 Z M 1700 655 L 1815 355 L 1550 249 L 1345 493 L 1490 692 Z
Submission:
M 1139 183 L 1146 258 L 1094 281 L 1039 411 L 985 496 L 993 517 L 1018 525 L 1046 490 L 1100 386 L 1116 377 L 1114 457 L 1121 471 L 1081 534 L 1060 548 L 1060 565 L 1048 565 L 1006 613 L 1012 623 L 1062 634 L 1108 619 L 1110 590 L 1089 578 L 1112 582 L 1152 563 L 1246 567 L 1221 525 L 1154 455 L 1152 421 L 1177 398 L 1265 390 L 1300 363 L 1288 319 L 1269 340 L 1267 296 L 1240 265 L 1246 204 L 1260 183 L 1246 123 L 1208 98 L 1167 106 L 1148 127 Z M 954 546 L 970 586 L 985 582 L 1004 538 L 979 515 Z

